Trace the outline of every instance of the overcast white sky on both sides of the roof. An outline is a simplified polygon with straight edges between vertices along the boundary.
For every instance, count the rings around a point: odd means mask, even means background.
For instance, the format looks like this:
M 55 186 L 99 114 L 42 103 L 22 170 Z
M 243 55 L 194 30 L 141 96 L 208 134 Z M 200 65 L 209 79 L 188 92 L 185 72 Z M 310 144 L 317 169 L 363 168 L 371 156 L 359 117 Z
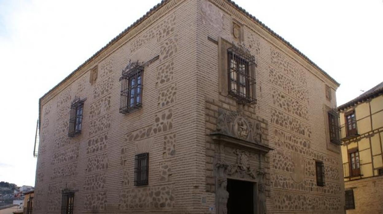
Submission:
M 0 0 L 0 181 L 34 185 L 39 98 L 159 2 Z M 338 105 L 383 81 L 382 0 L 235 2 L 336 79 Z

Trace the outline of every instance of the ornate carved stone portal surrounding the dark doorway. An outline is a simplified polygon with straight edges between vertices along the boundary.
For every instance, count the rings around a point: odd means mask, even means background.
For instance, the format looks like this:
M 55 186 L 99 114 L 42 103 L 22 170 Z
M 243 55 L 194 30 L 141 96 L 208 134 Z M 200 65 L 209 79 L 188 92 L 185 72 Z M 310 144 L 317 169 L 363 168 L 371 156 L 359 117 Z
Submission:
M 216 177 L 216 213 L 226 214 L 229 193 L 227 179 L 253 182 L 255 213 L 266 213 L 265 154 L 272 150 L 262 143 L 261 123 L 238 112 L 218 110 L 214 175 Z M 233 160 L 236 160 L 235 162 Z

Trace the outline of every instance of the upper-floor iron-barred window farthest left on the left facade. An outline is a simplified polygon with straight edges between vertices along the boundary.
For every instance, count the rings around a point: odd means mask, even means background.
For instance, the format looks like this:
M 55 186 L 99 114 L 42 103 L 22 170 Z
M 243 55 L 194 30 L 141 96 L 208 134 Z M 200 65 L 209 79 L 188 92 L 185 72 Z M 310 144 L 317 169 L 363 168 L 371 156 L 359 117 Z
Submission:
M 82 113 L 84 101 L 76 98 L 70 105 L 69 131 L 68 136 L 74 137 L 81 134 L 82 129 Z

